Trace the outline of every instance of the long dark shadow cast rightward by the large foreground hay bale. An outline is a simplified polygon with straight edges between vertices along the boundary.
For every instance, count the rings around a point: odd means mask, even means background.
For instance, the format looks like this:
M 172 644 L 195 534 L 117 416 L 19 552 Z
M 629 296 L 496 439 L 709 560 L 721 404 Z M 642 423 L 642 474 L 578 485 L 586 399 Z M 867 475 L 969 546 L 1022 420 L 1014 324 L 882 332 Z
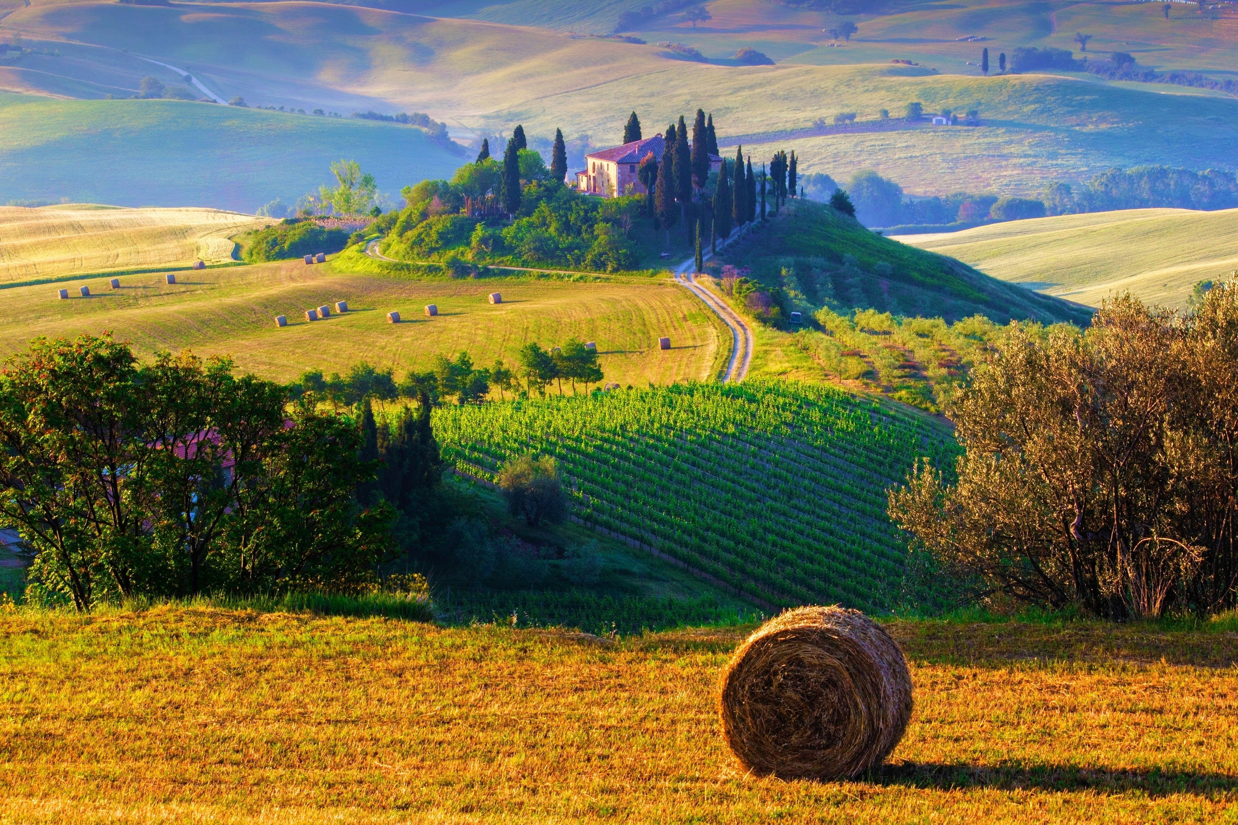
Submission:
M 1213 794 L 1238 790 L 1238 776 L 1191 773 L 1184 771 L 1122 771 L 1081 768 L 1070 764 L 1031 764 L 989 767 L 974 764 L 937 764 L 904 762 L 883 766 L 872 782 L 953 790 L 958 788 L 997 788 L 1000 790 L 1094 790 L 1120 794 L 1138 790 L 1149 797 L 1175 793 Z

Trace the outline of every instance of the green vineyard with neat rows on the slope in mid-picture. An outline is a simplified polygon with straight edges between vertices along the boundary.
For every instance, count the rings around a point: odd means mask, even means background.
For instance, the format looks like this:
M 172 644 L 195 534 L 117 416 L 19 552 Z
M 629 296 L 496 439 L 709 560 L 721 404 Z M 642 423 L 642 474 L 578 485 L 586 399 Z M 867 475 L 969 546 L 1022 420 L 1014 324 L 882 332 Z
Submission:
M 926 418 L 789 382 L 688 383 L 444 407 L 444 459 L 493 480 L 558 459 L 574 516 L 769 605 L 899 604 L 904 539 L 885 491 L 956 451 Z

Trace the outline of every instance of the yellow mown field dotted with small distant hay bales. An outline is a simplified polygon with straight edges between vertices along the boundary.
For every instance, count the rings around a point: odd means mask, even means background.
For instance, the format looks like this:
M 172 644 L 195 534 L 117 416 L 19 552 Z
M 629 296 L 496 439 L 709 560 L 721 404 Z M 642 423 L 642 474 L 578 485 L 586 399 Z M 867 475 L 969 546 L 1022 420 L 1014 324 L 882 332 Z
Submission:
M 729 357 L 730 334 L 687 289 L 665 280 L 569 282 L 550 278 L 412 280 L 348 271 L 334 263 L 285 261 L 105 277 L 5 291 L 10 312 L 0 320 L 0 351 L 24 350 L 36 335 L 76 336 L 111 330 L 147 355 L 189 348 L 230 355 L 243 370 L 287 381 L 303 370 L 347 371 L 358 361 L 392 366 L 397 375 L 428 369 L 430 359 L 467 350 L 474 364 L 515 362 L 527 341 L 543 346 L 568 338 L 595 340 L 607 381 L 645 386 L 706 380 Z M 78 297 L 79 286 L 89 298 Z M 58 286 L 72 298 L 59 301 Z M 504 303 L 487 296 L 501 292 Z M 347 301 L 344 315 L 310 323 L 305 310 Z M 426 304 L 439 315 L 427 318 Z M 392 325 L 386 313 L 404 320 Z M 286 315 L 280 329 L 275 315 Z M 673 349 L 657 339 L 670 335 Z

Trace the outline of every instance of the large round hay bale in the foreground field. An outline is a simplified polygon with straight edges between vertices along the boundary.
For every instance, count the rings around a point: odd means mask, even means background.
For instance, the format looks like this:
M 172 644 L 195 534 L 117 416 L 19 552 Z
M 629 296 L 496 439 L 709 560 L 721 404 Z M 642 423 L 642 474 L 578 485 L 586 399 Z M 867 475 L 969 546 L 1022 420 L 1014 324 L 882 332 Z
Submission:
M 799 607 L 735 651 L 718 710 L 723 738 L 753 773 L 853 779 L 903 738 L 911 674 L 894 639 L 858 610 Z

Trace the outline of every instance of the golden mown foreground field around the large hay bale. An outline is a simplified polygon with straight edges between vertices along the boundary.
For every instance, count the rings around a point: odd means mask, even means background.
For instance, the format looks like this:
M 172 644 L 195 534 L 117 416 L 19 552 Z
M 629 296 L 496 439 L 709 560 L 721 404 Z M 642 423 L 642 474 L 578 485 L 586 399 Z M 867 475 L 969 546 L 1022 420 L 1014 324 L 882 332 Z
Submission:
M 1232 626 L 886 625 L 915 711 L 851 783 L 744 776 L 735 630 L 210 609 L 0 617 L 12 821 L 1233 823 Z

